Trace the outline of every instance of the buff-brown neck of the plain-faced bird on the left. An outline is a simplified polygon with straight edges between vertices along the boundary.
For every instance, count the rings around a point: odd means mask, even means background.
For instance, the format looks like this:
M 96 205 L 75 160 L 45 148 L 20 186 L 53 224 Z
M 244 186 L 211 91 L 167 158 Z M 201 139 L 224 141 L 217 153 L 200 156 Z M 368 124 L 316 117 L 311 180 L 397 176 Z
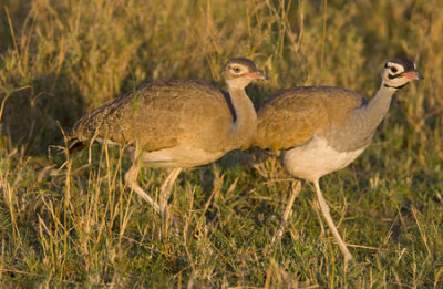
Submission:
M 237 147 L 246 148 L 257 134 L 257 114 L 243 87 L 228 87 L 233 111 L 230 140 Z

